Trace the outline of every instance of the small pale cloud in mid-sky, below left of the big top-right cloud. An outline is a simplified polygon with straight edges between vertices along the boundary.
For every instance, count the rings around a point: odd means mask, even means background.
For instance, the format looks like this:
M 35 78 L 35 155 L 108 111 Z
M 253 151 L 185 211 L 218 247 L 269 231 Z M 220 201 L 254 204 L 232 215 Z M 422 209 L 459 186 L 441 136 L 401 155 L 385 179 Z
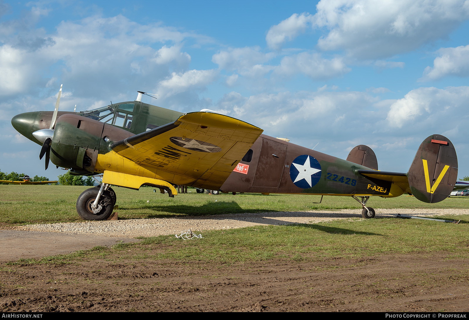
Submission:
M 302 73 L 312 79 L 330 79 L 350 71 L 342 57 L 330 60 L 323 58 L 319 53 L 302 52 L 284 57 L 280 66 L 275 67 L 274 73 L 291 76 Z

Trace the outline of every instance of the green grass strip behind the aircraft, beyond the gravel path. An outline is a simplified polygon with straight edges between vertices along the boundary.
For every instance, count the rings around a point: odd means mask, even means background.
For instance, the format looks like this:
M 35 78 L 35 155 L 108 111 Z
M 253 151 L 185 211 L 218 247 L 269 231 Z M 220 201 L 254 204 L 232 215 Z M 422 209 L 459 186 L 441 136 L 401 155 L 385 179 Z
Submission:
M 82 221 L 76 213 L 76 199 L 86 186 L 15 186 L 0 185 L 0 224 L 54 223 Z M 219 195 L 195 193 L 167 194 L 153 192 L 154 188 L 140 190 L 114 187 L 119 205 L 119 218 L 164 218 L 174 216 L 202 216 L 229 213 L 256 213 L 273 211 L 307 211 L 328 209 L 357 209 L 358 202 L 350 197 L 295 194 L 257 193 Z M 439 203 L 424 203 L 414 197 L 371 197 L 373 208 L 469 208 L 469 197 L 451 197 Z

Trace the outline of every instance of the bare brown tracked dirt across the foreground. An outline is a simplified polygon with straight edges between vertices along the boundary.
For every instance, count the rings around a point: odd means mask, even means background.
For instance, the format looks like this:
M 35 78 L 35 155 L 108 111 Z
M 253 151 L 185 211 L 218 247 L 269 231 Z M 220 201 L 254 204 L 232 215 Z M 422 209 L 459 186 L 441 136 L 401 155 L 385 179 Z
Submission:
M 152 249 L 148 255 L 159 250 Z M 229 266 L 118 258 L 111 255 L 66 265 L 9 265 L 3 261 L 0 310 L 469 310 L 469 260 L 454 260 L 443 252 Z

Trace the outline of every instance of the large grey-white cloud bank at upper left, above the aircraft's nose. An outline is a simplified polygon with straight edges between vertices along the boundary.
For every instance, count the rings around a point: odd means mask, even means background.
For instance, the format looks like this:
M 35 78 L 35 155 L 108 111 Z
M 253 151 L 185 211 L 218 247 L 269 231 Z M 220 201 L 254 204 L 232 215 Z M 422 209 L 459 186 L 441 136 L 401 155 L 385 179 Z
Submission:
M 37 7 L 31 10 L 34 12 L 30 15 L 47 14 L 47 10 Z M 10 21 L 16 27 L 18 23 Z M 172 72 L 182 72 L 189 66 L 190 55 L 183 51 L 185 40 L 207 40 L 161 23 L 141 25 L 122 15 L 62 21 L 50 34 L 40 28 L 16 27 L 28 32 L 25 36 L 18 31 L 2 39 L 0 96 L 3 97 L 29 92 L 34 86 L 54 87 L 56 79 L 74 88 L 77 96 L 88 97 L 111 88 L 126 92 L 129 88 L 154 87 Z M 49 74 L 47 80 L 44 74 Z

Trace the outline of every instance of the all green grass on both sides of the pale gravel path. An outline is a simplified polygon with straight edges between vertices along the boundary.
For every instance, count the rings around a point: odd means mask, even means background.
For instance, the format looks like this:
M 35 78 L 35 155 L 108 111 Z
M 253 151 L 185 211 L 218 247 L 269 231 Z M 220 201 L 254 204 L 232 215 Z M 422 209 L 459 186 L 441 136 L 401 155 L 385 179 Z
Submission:
M 75 203 L 84 186 L 0 186 L 0 223 L 19 225 L 83 221 L 76 213 Z M 190 190 L 190 189 L 189 189 Z M 284 194 L 167 194 L 153 192 L 153 188 L 139 191 L 115 188 L 119 205 L 119 218 L 155 218 L 174 216 L 200 216 L 229 213 L 305 211 L 314 209 L 356 208 L 359 205 L 349 197 L 326 196 L 322 203 L 318 196 Z M 468 197 L 469 198 L 469 197 Z M 401 196 L 385 199 L 374 197 L 368 202 L 374 208 L 469 208 L 466 197 L 451 197 L 436 204 L 428 204 L 414 197 Z M 149 201 L 149 202 L 147 202 Z M 441 218 L 455 218 L 441 216 Z M 445 250 L 456 255 L 467 254 L 468 215 L 458 216 L 460 224 L 435 223 L 422 220 L 355 219 L 354 223 L 331 222 L 308 225 L 251 227 L 227 231 L 211 231 L 207 240 L 185 242 L 174 236 L 147 238 L 134 245 L 116 246 L 120 251 L 138 246 L 139 255 L 145 248 L 164 243 L 155 259 L 189 260 L 257 260 L 290 256 L 303 259 L 307 253 L 324 256 L 360 256 L 380 253 L 410 253 Z M 311 232 L 314 231 L 314 232 Z M 207 231 L 208 232 L 208 231 Z M 109 249 L 102 250 L 107 251 Z M 101 250 L 88 254 L 94 255 Z M 128 251 L 128 250 L 127 250 Z M 294 255 L 291 253 L 295 252 Z M 302 253 L 305 253 L 302 255 Z M 100 252 L 99 254 L 106 254 Z M 135 259 L 128 256 L 127 258 Z M 223 258 L 220 258 L 223 257 Z

